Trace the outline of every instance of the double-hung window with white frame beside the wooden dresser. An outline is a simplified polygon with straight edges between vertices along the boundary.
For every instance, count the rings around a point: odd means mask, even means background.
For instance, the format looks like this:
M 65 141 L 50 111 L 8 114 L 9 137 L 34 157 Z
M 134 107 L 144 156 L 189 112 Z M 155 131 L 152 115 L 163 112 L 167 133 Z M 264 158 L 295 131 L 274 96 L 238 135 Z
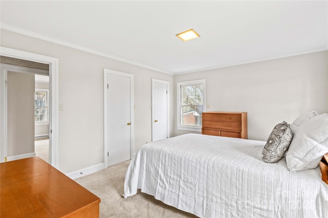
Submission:
M 177 82 L 177 129 L 201 132 L 206 110 L 206 80 Z

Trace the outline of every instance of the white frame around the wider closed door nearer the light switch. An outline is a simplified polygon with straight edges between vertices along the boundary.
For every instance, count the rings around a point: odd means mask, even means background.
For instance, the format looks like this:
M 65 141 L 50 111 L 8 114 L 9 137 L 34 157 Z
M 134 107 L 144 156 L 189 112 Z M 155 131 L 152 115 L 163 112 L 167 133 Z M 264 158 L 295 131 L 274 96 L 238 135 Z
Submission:
M 109 124 L 109 120 L 108 120 L 108 83 L 107 83 L 107 75 L 116 75 L 116 76 L 123 76 L 123 77 L 129 77 L 130 78 L 130 116 L 131 116 L 131 154 L 130 154 L 130 158 L 132 159 L 133 155 L 134 155 L 134 75 L 133 74 L 129 74 L 129 73 L 123 73 L 123 72 L 119 72 L 119 71 L 114 71 L 114 70 L 110 70 L 110 69 L 106 69 L 104 68 L 104 164 L 105 164 L 105 168 L 108 167 L 108 163 L 107 163 L 107 152 L 109 152 L 108 150 L 108 124 Z

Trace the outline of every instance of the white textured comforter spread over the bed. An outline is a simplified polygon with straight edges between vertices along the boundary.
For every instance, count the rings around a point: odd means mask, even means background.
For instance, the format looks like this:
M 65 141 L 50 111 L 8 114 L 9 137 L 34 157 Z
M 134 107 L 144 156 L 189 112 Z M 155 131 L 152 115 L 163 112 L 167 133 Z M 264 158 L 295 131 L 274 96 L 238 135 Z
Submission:
M 200 217 L 328 217 L 319 168 L 261 161 L 264 141 L 186 134 L 142 146 L 124 197 L 142 192 Z

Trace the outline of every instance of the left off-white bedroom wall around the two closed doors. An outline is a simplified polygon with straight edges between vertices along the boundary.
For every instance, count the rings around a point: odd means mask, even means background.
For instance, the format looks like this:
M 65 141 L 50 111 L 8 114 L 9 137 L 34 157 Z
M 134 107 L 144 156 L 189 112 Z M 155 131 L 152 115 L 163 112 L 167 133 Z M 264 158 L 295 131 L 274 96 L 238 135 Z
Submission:
M 104 68 L 134 74 L 134 150 L 151 141 L 151 81 L 173 76 L 83 52 L 56 43 L 1 30 L 1 46 L 58 58 L 59 170 L 73 172 L 104 162 Z M 174 101 L 170 101 L 170 119 Z M 171 122 L 173 135 L 174 123 Z

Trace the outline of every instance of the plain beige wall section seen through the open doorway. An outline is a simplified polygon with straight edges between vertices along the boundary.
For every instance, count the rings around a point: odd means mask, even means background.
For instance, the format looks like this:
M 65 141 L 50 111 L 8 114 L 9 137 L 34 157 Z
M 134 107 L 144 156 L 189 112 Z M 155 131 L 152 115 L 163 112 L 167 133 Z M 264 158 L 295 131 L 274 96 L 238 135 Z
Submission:
M 8 71 L 7 81 L 7 156 L 33 153 L 34 74 Z

